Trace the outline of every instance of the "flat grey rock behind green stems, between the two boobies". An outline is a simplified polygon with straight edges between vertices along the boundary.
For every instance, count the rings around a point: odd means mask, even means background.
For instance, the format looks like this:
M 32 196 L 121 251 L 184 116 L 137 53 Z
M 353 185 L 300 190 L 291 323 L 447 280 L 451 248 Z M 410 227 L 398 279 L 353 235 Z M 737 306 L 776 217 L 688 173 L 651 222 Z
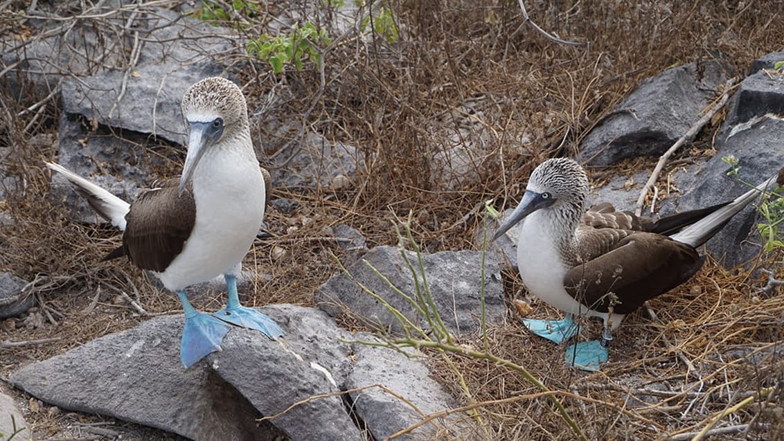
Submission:
M 426 316 L 419 313 L 415 306 L 395 292 L 378 274 L 382 274 L 394 287 L 414 299 L 417 298 L 419 284 L 419 291 L 424 298 L 423 274 L 419 269 L 416 253 L 405 253 L 408 262 L 412 262 L 416 269 L 416 280 L 397 248 L 376 247 L 368 251 L 359 262 L 348 267 L 350 277 L 346 273 L 338 273 L 321 285 L 316 293 L 317 304 L 333 316 L 350 311 L 364 317 L 369 324 L 382 328 L 390 327 L 393 331 L 401 332 L 402 328 L 393 313 L 383 304 L 387 302 L 413 324 L 423 329 L 429 328 Z M 430 295 L 445 326 L 455 334 L 478 331 L 481 328 L 481 252 L 441 251 L 431 255 L 423 253 L 422 261 Z M 503 303 L 499 266 L 492 258 L 487 259 L 485 266 L 486 323 L 503 324 L 506 320 L 506 307 Z M 369 295 L 358 283 L 383 299 L 383 302 Z

